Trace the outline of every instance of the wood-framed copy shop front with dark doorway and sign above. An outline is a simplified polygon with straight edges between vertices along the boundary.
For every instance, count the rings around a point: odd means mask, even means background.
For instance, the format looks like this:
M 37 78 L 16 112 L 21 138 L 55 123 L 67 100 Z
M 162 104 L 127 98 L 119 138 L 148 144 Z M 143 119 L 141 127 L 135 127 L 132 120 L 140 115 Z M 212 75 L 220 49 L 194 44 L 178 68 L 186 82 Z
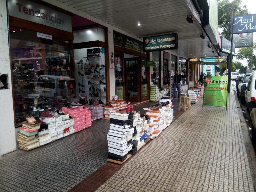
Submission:
M 111 54 L 111 53 L 110 53 Z M 111 55 L 110 55 L 111 58 Z M 127 101 L 149 100 L 149 55 L 143 43 L 114 31 L 115 93 Z M 111 67 L 111 60 L 110 60 Z

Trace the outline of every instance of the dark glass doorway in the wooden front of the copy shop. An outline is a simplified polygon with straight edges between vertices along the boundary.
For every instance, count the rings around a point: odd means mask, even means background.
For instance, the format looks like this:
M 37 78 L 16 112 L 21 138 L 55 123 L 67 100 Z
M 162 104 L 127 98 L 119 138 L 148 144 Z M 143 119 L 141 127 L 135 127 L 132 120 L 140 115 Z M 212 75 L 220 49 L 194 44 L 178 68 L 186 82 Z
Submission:
M 125 59 L 125 92 L 127 101 L 140 101 L 139 58 Z

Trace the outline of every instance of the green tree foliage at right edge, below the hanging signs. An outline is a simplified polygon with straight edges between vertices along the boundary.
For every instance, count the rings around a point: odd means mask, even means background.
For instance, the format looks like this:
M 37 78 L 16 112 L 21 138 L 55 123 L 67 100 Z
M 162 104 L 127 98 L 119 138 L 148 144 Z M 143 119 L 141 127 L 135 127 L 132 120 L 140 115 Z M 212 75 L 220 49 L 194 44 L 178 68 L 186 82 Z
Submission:
M 256 69 L 256 42 L 252 44 L 252 47 L 243 47 L 240 48 L 238 54 L 236 55 L 237 59 L 247 59 L 248 66 L 250 68 Z

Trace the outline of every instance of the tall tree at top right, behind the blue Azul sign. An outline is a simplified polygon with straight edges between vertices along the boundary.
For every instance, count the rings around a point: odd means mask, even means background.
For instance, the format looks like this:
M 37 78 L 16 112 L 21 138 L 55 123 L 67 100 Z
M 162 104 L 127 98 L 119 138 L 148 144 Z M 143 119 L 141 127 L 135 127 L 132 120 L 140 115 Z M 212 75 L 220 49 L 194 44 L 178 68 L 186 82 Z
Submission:
M 228 28 L 229 19 L 232 17 L 233 1 L 218 0 L 218 25 L 221 29 L 221 36 L 229 40 Z M 242 4 L 242 0 L 235 0 L 234 15 L 247 15 L 247 6 Z

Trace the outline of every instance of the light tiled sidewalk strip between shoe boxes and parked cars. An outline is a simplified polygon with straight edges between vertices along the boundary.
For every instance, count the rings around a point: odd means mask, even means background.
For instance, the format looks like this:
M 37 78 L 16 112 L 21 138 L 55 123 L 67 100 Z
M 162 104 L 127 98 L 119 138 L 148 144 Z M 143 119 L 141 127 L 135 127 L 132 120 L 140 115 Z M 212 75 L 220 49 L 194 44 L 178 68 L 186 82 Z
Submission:
M 199 100 L 100 191 L 254 191 L 234 93 L 227 110 Z

